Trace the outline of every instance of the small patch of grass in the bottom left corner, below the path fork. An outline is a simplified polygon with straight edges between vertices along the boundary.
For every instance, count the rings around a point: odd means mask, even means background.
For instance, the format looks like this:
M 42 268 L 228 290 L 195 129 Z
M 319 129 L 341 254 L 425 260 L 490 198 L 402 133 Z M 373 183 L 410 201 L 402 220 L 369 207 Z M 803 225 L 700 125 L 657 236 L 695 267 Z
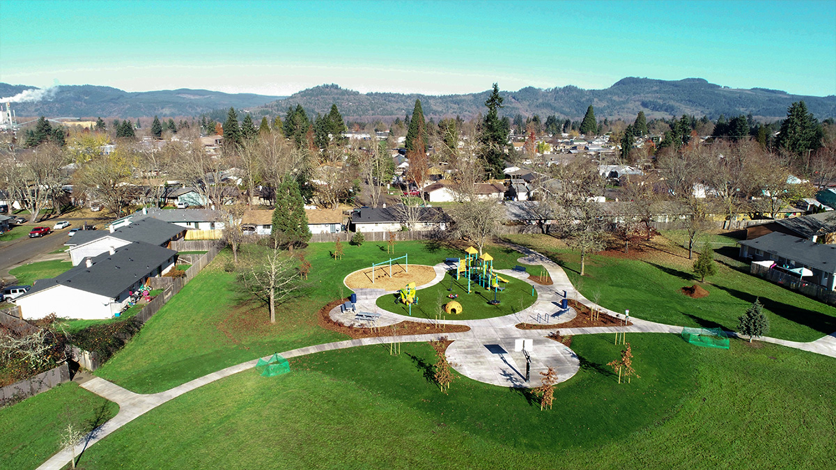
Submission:
M 61 450 L 59 437 L 69 423 L 88 432 L 118 411 L 115 403 L 74 382 L 0 408 L 0 468 L 38 467 Z

